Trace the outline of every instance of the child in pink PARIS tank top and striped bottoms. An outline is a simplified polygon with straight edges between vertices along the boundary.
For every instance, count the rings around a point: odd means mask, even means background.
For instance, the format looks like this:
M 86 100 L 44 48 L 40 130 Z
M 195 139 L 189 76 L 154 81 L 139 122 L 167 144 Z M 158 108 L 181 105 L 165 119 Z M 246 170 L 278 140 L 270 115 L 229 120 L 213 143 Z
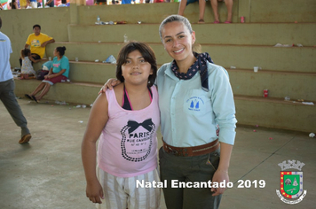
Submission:
M 137 187 L 137 182 L 159 182 L 156 73 L 154 51 L 146 43 L 128 43 L 116 64 L 116 78 L 122 83 L 100 94 L 92 106 L 82 158 L 86 196 L 99 204 L 105 199 L 99 208 L 160 208 L 159 188 Z

